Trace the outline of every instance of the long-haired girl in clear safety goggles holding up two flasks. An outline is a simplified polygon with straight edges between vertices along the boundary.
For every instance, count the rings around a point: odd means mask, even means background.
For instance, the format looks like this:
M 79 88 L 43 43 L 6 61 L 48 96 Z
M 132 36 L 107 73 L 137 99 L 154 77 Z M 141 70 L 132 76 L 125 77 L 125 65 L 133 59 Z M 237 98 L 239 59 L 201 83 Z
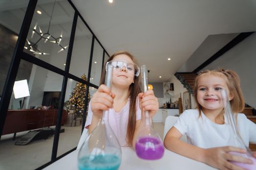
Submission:
M 109 110 L 108 121 L 121 146 L 133 146 L 142 123 L 142 109 L 153 116 L 158 110 L 158 101 L 152 90 L 140 93 L 139 67 L 131 54 L 120 51 L 108 58 L 114 66 L 112 89 L 104 85 L 106 64 L 104 65 L 101 85 L 89 102 L 85 128 L 89 133 L 97 126 L 103 110 Z M 143 122 L 143 121 L 142 121 Z

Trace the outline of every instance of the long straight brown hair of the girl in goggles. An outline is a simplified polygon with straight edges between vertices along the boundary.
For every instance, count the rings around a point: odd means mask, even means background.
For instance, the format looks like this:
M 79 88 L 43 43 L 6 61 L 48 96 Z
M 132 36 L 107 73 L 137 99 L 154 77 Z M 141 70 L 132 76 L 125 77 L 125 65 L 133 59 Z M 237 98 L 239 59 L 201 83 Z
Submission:
M 136 59 L 127 51 L 118 51 L 114 53 L 107 59 L 107 62 L 113 60 L 115 56 L 120 54 L 127 55 L 128 57 L 130 57 L 130 59 L 133 61 L 134 64 L 138 65 Z M 105 83 L 106 63 L 104 64 L 104 67 L 102 69 L 101 80 L 100 80 L 101 85 Z M 127 99 L 130 98 L 128 125 L 127 125 L 127 132 L 126 132 L 126 140 L 129 146 L 132 146 L 132 139 L 133 139 L 135 127 L 136 127 L 136 106 L 137 106 L 136 102 L 137 102 L 137 96 L 141 92 L 140 86 L 139 86 L 139 77 L 140 76 L 138 77 L 134 76 L 134 83 L 132 83 L 129 86 L 128 96 L 127 96 Z

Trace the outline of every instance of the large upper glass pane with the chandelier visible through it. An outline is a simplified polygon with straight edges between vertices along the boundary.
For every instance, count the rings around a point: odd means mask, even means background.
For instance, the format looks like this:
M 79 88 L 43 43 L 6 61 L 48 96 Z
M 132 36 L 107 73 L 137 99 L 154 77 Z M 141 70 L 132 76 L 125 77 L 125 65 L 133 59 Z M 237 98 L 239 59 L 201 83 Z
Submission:
M 24 51 L 64 69 L 74 10 L 68 1 L 40 0 L 27 35 Z M 40 14 L 40 12 L 41 14 Z

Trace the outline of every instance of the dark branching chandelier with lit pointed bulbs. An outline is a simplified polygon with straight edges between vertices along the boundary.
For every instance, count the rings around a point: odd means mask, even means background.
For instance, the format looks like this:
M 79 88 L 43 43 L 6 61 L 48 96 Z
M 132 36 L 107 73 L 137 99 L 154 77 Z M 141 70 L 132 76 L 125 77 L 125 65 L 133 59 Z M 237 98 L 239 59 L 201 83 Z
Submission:
M 33 38 L 34 34 L 38 34 L 39 35 L 39 39 L 36 41 L 35 44 L 32 44 L 28 39 L 27 40 L 27 44 L 29 47 L 24 47 L 25 49 L 28 49 L 29 51 L 32 51 L 34 54 L 40 54 L 40 55 L 46 55 L 46 54 L 50 54 L 50 53 L 45 53 L 43 51 L 40 51 L 38 50 L 37 48 L 37 44 L 42 40 L 44 40 L 44 43 L 46 43 L 48 40 L 49 42 L 51 43 L 55 43 L 57 44 L 58 46 L 60 46 L 60 51 L 64 51 L 67 47 L 67 46 L 62 46 L 61 45 L 61 41 L 62 41 L 62 32 L 60 34 L 59 37 L 54 37 L 53 35 L 50 34 L 49 30 L 50 30 L 50 25 L 51 25 L 51 19 L 52 19 L 52 15 L 53 15 L 53 10 L 54 10 L 54 7 L 55 7 L 55 3 L 56 3 L 56 0 L 54 1 L 54 4 L 53 4 L 53 8 L 52 8 L 52 13 L 51 13 L 51 17 L 50 17 L 50 20 L 49 20 L 49 25 L 48 25 L 48 30 L 46 33 L 44 33 L 42 31 L 42 29 L 40 28 L 40 26 L 37 27 L 37 23 L 35 24 L 34 28 L 33 28 L 33 31 L 32 31 L 32 35 L 31 35 L 31 38 Z M 38 28 L 38 29 L 37 29 Z

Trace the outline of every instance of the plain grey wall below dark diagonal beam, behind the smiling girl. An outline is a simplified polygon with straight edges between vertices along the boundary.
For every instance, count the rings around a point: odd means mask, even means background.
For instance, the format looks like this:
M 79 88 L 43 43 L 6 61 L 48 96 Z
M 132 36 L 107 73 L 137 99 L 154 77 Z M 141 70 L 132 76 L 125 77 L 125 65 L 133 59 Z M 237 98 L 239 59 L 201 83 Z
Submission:
M 256 108 L 256 33 L 208 65 L 206 69 L 232 69 L 239 75 L 245 102 Z

